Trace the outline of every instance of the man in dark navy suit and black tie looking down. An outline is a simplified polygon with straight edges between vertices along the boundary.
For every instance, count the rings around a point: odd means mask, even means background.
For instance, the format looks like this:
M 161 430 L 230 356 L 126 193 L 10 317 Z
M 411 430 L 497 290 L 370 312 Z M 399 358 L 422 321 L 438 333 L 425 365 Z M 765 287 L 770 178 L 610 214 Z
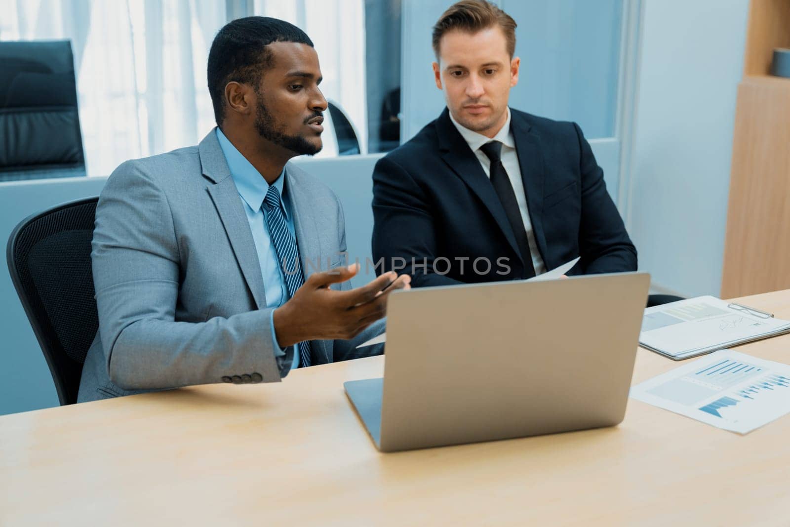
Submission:
M 570 274 L 637 269 L 637 252 L 579 127 L 507 106 L 516 23 L 463 0 L 434 26 L 447 107 L 374 171 L 378 272 L 412 286 L 515 280 L 581 257 Z

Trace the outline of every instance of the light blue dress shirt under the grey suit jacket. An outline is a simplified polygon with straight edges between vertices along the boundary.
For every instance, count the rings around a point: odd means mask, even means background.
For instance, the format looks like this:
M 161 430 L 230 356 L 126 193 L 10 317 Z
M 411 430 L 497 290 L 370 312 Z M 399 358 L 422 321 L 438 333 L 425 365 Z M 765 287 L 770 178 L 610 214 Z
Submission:
M 269 235 L 269 224 L 266 222 L 266 212 L 261 206 L 266 193 L 269 192 L 269 183 L 263 179 L 250 161 L 242 155 L 235 146 L 228 141 L 228 137 L 219 128 L 216 129 L 216 138 L 220 141 L 220 148 L 224 153 L 225 160 L 228 161 L 228 168 L 231 171 L 231 178 L 239 190 L 239 197 L 242 200 L 247 221 L 250 222 L 250 231 L 255 243 L 255 250 L 258 252 L 258 263 L 261 265 L 261 275 L 263 276 L 263 287 L 266 291 L 266 307 L 280 307 L 288 301 L 288 288 L 285 285 L 283 270 L 277 260 L 277 252 Z M 291 206 L 288 201 L 288 194 L 284 191 L 285 169 L 280 177 L 274 182 L 274 187 L 280 192 L 280 201 L 285 211 L 285 221 L 288 224 L 288 231 L 296 238 L 294 231 L 294 220 L 291 213 Z M 272 326 L 272 339 L 274 341 L 274 351 L 276 356 L 285 355 L 284 349 L 277 344 L 277 337 L 274 332 L 274 311 L 269 318 Z M 292 368 L 299 367 L 299 348 L 294 346 L 294 361 Z

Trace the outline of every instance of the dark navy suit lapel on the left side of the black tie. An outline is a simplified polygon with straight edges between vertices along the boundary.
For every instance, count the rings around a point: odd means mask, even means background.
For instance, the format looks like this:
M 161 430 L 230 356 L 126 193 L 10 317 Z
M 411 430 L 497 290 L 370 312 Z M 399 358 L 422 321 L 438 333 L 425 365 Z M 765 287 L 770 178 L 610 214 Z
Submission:
M 472 192 L 480 198 L 480 201 L 483 201 L 483 205 L 486 206 L 491 216 L 494 216 L 500 230 L 510 243 L 510 247 L 513 248 L 513 252 L 521 254 L 521 251 L 518 250 L 516 237 L 513 235 L 513 228 L 510 227 L 505 209 L 502 208 L 502 202 L 499 201 L 496 190 L 491 185 L 491 179 L 488 179 L 483 167 L 480 166 L 480 160 L 477 159 L 464 137 L 450 121 L 450 111 L 447 108 L 436 119 L 436 130 L 442 159 L 450 165 L 458 177 L 464 180 Z

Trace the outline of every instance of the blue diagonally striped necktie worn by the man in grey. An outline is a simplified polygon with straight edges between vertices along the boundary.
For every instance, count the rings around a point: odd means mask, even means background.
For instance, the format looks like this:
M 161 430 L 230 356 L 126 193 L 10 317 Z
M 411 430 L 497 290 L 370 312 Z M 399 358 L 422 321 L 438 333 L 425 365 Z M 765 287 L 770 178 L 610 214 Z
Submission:
M 296 239 L 288 231 L 288 224 L 280 206 L 280 193 L 273 185 L 269 185 L 269 192 L 266 193 L 263 204 L 266 207 L 266 224 L 269 225 L 269 236 L 274 244 L 283 277 L 285 277 L 288 296 L 292 297 L 296 290 L 304 284 L 299 247 L 296 246 Z M 312 364 L 310 341 L 299 342 L 296 345 L 299 349 L 300 366 L 310 366 Z

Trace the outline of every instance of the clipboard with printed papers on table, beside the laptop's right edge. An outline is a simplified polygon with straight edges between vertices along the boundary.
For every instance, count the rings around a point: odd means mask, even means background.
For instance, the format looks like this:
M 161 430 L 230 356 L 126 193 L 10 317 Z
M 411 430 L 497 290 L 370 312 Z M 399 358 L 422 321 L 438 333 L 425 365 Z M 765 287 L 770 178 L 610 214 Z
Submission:
M 683 360 L 717 349 L 790 332 L 790 322 L 713 296 L 645 309 L 639 344 Z

